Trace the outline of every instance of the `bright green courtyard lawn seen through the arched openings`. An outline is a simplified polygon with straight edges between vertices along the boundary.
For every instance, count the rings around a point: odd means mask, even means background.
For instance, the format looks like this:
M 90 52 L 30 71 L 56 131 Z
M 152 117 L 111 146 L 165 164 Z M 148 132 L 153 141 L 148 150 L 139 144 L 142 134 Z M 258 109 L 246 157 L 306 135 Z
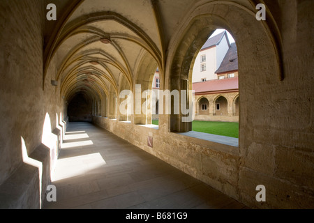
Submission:
M 158 125 L 158 120 L 153 121 Z M 219 121 L 193 121 L 192 130 L 195 132 L 205 132 L 219 134 L 226 137 L 239 138 L 239 123 L 227 123 Z

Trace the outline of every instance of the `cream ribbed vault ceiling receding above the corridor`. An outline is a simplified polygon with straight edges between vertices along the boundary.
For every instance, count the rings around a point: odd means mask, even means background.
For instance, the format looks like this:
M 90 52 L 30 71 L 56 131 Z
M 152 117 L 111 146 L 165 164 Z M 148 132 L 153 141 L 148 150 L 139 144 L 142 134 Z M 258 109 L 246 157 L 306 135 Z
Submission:
M 45 28 L 45 75 L 54 61 L 66 100 L 77 93 L 101 98 L 117 95 L 120 86 L 133 89 L 136 79 L 143 79 L 135 73 L 147 61 L 163 69 L 165 45 L 191 2 L 54 1 L 59 20 Z

